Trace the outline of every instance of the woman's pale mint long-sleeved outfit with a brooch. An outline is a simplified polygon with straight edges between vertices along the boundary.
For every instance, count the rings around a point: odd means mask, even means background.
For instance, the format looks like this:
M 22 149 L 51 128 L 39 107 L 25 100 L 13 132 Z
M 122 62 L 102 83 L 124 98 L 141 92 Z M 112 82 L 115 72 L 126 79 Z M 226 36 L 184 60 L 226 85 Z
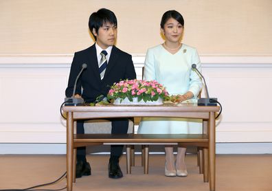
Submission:
M 201 78 L 192 70 L 201 71 L 199 55 L 193 47 L 183 44 L 179 52 L 171 54 L 162 45 L 148 49 L 144 64 L 144 80 L 157 80 L 170 95 L 194 93 L 191 102 L 202 88 Z M 177 117 L 143 117 L 138 128 L 141 134 L 202 133 L 202 120 Z

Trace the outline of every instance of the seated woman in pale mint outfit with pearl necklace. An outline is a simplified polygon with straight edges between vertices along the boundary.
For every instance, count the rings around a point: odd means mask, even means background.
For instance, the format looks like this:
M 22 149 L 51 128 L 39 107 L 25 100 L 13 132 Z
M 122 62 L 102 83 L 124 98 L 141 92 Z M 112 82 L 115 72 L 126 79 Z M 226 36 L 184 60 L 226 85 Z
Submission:
M 201 71 L 199 55 L 193 47 L 181 43 L 183 16 L 175 10 L 165 12 L 161 18 L 161 33 L 165 42 L 148 49 L 146 53 L 144 79 L 157 80 L 166 87 L 174 102 L 196 102 L 202 88 L 201 78 L 192 71 L 192 64 Z M 202 133 L 202 121 L 174 117 L 144 117 L 138 128 L 144 134 Z M 165 175 L 186 177 L 186 148 L 177 149 L 174 161 L 173 146 L 166 146 Z

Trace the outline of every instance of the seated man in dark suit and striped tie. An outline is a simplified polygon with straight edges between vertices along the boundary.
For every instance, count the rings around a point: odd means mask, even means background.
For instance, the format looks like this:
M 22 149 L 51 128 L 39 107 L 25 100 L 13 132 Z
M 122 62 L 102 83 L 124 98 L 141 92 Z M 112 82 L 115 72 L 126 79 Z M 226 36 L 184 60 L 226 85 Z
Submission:
M 124 79 L 135 79 L 136 73 L 130 54 L 122 52 L 115 47 L 117 37 L 117 19 L 111 10 L 100 9 L 93 12 L 89 18 L 89 30 L 95 38 L 91 47 L 76 52 L 71 64 L 68 87 L 65 91 L 67 97 L 73 94 L 73 85 L 76 76 L 82 69 L 82 64 L 87 64 L 76 85 L 75 97 L 83 98 L 84 102 L 95 102 L 100 95 L 106 96 L 114 82 Z M 110 119 L 111 133 L 125 134 L 128 131 L 128 119 Z M 83 134 L 84 121 L 77 122 L 77 133 Z M 123 177 L 119 166 L 123 146 L 111 146 L 109 159 L 109 177 L 113 179 Z M 91 166 L 86 160 L 86 148 L 78 148 L 76 162 L 76 177 L 91 175 Z

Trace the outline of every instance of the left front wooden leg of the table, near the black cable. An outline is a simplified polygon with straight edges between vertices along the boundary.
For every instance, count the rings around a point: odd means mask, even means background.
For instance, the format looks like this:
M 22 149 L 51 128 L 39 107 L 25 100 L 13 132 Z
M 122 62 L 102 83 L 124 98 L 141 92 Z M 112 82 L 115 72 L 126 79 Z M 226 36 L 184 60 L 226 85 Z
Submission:
M 67 190 L 73 190 L 73 113 L 67 112 Z

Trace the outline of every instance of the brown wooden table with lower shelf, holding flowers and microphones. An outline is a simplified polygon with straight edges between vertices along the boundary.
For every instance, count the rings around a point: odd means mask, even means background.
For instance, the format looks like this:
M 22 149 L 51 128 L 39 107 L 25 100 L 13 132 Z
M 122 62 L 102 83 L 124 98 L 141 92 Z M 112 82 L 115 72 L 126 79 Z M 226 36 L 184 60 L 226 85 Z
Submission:
M 215 190 L 215 112 L 218 106 L 197 106 L 196 104 L 182 104 L 175 106 L 171 104 L 161 106 L 64 106 L 67 112 L 67 190 L 73 188 L 73 148 L 87 145 L 88 143 L 148 143 L 148 142 L 207 142 L 209 150 L 209 190 Z M 207 121 L 207 132 L 205 135 L 175 137 L 169 135 L 166 139 L 154 137 L 154 135 L 74 135 L 74 120 L 109 118 L 109 117 L 186 117 L 203 119 Z M 152 137 L 153 136 L 153 137 Z M 207 172 L 206 172 L 207 173 Z

